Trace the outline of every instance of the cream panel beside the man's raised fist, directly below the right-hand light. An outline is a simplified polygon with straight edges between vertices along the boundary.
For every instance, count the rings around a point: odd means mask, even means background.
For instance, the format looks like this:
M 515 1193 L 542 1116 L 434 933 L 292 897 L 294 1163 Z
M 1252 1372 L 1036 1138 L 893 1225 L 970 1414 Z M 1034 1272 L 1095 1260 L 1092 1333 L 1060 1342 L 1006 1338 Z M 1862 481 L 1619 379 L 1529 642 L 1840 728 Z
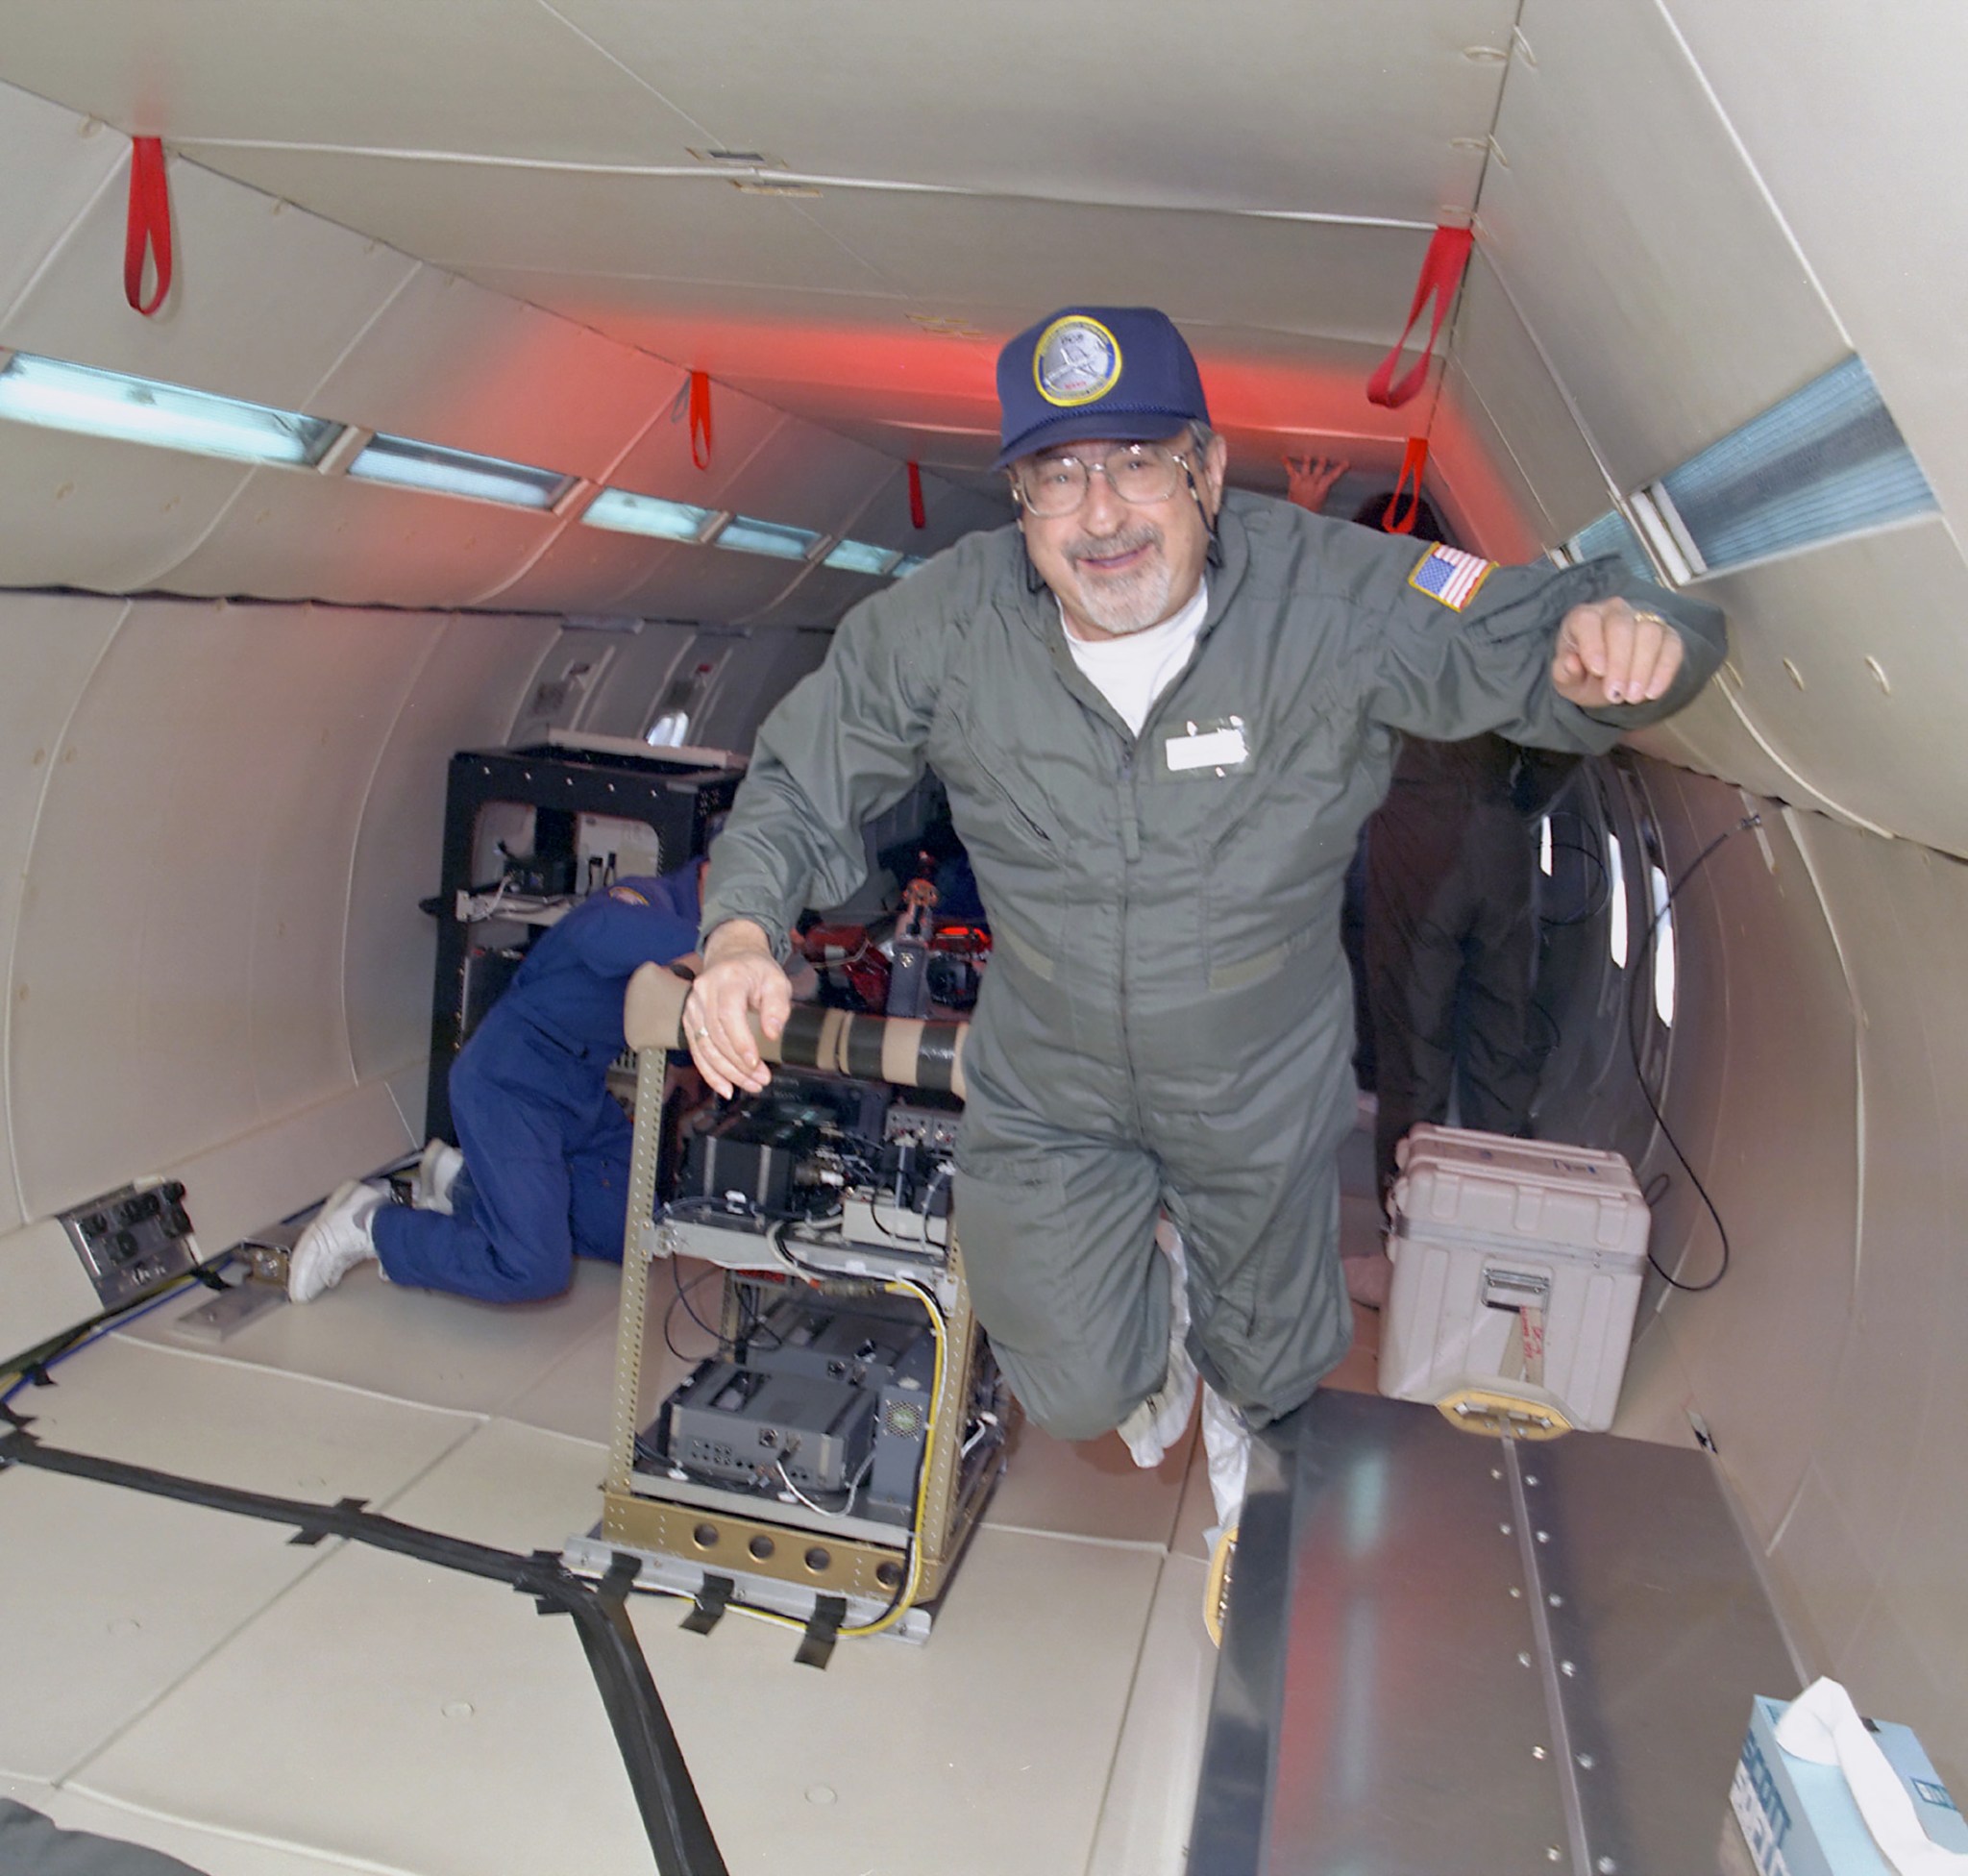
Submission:
M 1744 707 L 1789 768 L 1874 827 L 1968 856 L 1968 563 L 1942 522 L 1696 591 L 1728 612 Z

